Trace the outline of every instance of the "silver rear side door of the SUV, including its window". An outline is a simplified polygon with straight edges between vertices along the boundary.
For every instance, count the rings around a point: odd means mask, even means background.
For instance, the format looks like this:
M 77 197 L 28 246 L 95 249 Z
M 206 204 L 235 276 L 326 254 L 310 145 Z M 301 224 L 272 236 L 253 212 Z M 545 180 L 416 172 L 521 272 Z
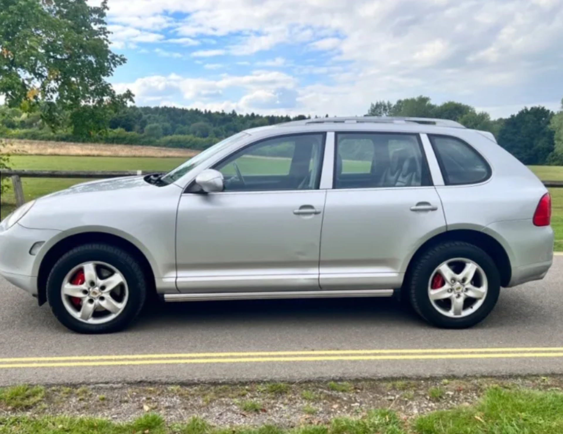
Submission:
M 410 255 L 446 229 L 418 134 L 337 133 L 320 286 L 392 289 Z

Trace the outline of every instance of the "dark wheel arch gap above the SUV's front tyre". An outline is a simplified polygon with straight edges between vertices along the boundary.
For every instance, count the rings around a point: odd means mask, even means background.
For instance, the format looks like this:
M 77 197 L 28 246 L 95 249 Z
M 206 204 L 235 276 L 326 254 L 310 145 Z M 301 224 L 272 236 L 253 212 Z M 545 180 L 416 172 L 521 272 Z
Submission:
M 74 247 L 94 242 L 122 248 L 135 257 L 145 275 L 148 290 L 152 292 L 156 291 L 154 266 L 151 263 L 152 258 L 146 255 L 145 252 L 141 250 L 142 247 L 139 247 L 137 243 L 131 241 L 128 237 L 126 238 L 115 233 L 104 232 L 104 230 L 97 228 L 85 230 L 84 232 L 66 233 L 57 238 L 56 242 L 44 252 L 37 270 L 37 300 L 39 306 L 47 301 L 47 278 L 57 260 L 59 260 L 65 252 L 68 252 Z

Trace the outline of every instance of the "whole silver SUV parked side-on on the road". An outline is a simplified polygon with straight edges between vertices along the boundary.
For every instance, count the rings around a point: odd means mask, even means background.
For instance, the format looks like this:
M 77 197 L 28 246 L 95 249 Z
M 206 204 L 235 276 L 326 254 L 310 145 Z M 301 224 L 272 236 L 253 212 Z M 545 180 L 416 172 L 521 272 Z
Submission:
M 0 272 L 66 327 L 164 301 L 391 297 L 471 327 L 552 264 L 547 189 L 490 133 L 324 118 L 233 135 L 167 174 L 97 180 L 0 227 Z

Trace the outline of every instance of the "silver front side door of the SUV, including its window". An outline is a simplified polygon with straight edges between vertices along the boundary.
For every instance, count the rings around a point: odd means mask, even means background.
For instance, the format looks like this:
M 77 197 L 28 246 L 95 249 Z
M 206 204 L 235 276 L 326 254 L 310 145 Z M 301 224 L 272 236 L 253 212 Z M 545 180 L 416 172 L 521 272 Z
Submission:
M 178 290 L 318 290 L 323 148 L 324 134 L 254 143 L 214 166 L 223 192 L 182 195 Z

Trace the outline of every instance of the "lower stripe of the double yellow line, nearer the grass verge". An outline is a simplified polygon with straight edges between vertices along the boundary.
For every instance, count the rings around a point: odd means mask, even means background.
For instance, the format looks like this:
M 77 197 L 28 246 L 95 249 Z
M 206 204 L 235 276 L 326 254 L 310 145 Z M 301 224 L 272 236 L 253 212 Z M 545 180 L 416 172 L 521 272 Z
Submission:
M 358 361 L 358 360 L 439 360 L 439 359 L 513 359 L 513 358 L 558 358 L 563 352 L 524 352 L 524 353 L 493 353 L 493 354 L 412 354 L 412 355 L 364 355 L 364 356 L 303 356 L 303 357 L 247 357 L 225 359 L 155 359 L 155 360 L 114 360 L 114 361 L 83 361 L 70 363 L 21 363 L 0 365 L 0 369 L 8 368 L 77 368 L 100 366 L 133 366 L 158 364 L 215 364 L 215 363 L 260 363 L 288 361 Z

